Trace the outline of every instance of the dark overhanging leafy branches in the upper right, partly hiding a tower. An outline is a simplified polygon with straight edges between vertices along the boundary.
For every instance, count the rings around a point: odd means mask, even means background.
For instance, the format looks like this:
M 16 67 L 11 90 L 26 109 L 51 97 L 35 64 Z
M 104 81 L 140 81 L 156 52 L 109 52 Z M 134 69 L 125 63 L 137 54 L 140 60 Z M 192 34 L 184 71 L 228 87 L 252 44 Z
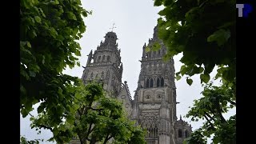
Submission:
M 165 58 L 182 53 L 184 65 L 176 73 L 189 77 L 200 74 L 201 82 L 209 82 L 214 66 L 225 82 L 235 78 L 235 14 L 234 0 L 154 0 L 164 6 L 158 14 L 158 37 L 167 46 Z M 228 69 L 220 70 L 223 66 Z M 225 74 L 223 74 L 225 73 Z M 187 81 L 190 84 L 190 81 Z

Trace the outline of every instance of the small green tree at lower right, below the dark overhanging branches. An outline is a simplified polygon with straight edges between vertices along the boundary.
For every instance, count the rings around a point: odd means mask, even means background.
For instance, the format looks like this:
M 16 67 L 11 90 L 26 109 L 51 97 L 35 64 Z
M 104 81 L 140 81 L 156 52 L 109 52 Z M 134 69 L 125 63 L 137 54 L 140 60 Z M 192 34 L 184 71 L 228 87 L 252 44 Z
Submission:
M 192 121 L 205 119 L 203 126 L 194 131 L 187 143 L 198 143 L 214 134 L 214 143 L 235 143 L 236 117 L 226 120 L 222 114 L 236 106 L 234 88 L 228 86 L 206 86 L 199 100 L 194 100 L 194 106 L 186 114 Z M 201 139 L 201 140 L 200 140 Z M 199 143 L 200 143 L 199 142 Z M 203 142 L 202 142 L 203 143 Z

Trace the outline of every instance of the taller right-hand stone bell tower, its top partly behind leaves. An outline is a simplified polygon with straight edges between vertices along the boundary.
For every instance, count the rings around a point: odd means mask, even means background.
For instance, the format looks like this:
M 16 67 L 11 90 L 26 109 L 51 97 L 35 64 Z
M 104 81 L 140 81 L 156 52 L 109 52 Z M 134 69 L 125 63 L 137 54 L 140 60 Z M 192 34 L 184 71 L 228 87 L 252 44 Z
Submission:
M 146 43 L 142 47 L 141 71 L 134 95 L 132 118 L 148 131 L 147 143 L 174 144 L 174 122 L 177 119 L 174 60 L 162 61 L 166 46 L 157 34 L 156 26 L 148 46 L 160 42 L 160 50 L 146 52 Z

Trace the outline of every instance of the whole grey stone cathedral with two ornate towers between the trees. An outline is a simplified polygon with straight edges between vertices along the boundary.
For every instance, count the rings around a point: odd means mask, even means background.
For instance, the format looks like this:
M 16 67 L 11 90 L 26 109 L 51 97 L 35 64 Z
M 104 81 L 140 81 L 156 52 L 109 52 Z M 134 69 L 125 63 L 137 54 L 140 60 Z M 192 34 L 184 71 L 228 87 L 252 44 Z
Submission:
M 166 46 L 157 37 L 154 28 L 154 42 L 161 43 L 161 50 L 146 52 L 142 47 L 141 71 L 138 87 L 131 98 L 127 82 L 122 83 L 122 61 L 117 35 L 110 31 L 97 50 L 90 51 L 82 74 L 83 82 L 100 79 L 109 96 L 123 102 L 129 118 L 146 128 L 148 144 L 182 144 L 191 133 L 191 126 L 176 116 L 176 86 L 174 82 L 174 60 L 162 61 Z

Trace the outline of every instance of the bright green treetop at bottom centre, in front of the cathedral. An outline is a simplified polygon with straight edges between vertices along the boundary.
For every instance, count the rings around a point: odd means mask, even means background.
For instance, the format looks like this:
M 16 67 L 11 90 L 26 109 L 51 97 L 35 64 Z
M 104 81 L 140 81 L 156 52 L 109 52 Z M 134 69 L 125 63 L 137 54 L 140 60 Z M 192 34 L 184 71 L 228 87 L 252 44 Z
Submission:
M 73 106 L 66 111 L 65 122 L 59 126 L 50 124 L 48 114 L 32 118 L 33 126 L 53 132 L 57 142 L 70 142 L 78 138 L 83 143 L 146 143 L 145 131 L 126 118 L 122 103 L 115 98 L 106 98 L 102 86 L 90 83 L 74 90 Z

